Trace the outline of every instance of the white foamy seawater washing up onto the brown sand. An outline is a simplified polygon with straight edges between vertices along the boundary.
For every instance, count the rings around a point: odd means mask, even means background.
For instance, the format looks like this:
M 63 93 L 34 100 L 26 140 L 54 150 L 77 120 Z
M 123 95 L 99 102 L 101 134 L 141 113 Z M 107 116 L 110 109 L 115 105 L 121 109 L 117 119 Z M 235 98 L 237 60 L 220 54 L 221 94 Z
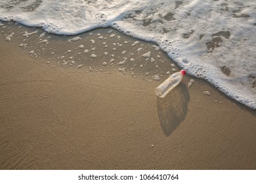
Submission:
M 113 27 L 256 108 L 255 0 L 0 0 L 0 20 L 57 35 Z

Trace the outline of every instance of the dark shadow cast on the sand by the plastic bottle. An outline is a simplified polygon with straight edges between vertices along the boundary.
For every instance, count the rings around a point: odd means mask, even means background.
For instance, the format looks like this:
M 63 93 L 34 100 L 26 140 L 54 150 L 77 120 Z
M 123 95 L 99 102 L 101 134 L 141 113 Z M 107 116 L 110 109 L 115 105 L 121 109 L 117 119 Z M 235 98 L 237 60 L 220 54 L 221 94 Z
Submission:
M 186 118 L 190 96 L 185 84 L 179 84 L 165 97 L 158 97 L 158 118 L 166 136 Z

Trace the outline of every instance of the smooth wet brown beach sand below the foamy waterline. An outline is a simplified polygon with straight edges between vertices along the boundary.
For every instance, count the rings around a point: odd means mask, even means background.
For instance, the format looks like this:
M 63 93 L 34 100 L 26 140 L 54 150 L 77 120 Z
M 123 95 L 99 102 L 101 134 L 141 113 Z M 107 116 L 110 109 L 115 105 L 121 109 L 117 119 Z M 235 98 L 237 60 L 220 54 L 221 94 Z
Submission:
M 0 169 L 256 169 L 255 110 L 188 75 L 157 97 L 179 67 L 153 43 L 0 32 Z

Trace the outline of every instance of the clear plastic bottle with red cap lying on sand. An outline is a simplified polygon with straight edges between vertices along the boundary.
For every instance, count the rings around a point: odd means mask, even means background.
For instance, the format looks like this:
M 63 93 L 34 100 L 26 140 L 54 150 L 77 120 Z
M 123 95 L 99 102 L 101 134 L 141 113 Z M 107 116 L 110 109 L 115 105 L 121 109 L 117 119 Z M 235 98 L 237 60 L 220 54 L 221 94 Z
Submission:
M 175 86 L 177 86 L 181 82 L 184 75 L 186 75 L 186 71 L 181 70 L 169 76 L 169 78 L 167 78 L 164 82 L 160 84 L 160 86 L 156 88 L 156 95 L 161 98 L 165 97 L 167 93 L 173 90 L 173 88 L 175 88 Z

